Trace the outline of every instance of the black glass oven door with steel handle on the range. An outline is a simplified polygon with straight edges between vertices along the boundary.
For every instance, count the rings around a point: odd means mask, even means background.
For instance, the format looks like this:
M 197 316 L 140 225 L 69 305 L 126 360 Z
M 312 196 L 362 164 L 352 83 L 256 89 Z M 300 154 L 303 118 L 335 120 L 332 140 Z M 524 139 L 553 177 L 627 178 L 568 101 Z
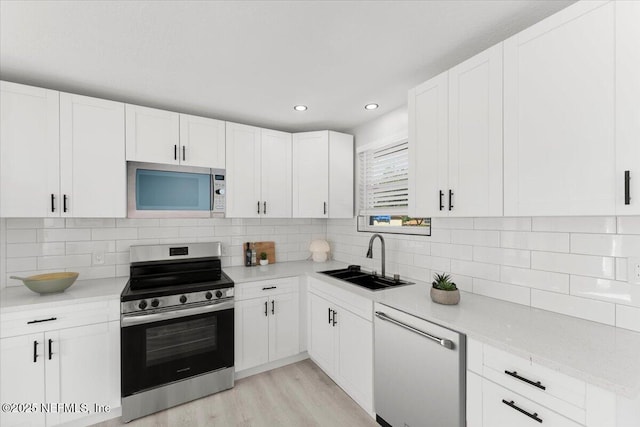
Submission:
M 122 397 L 233 367 L 233 300 L 123 316 Z

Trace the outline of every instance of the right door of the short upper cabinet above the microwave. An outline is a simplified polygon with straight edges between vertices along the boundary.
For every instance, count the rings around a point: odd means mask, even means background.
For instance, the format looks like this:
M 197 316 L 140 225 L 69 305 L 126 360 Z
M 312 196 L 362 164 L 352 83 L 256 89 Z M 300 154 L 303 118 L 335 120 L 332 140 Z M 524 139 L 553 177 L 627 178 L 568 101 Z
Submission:
M 180 164 L 224 169 L 225 122 L 180 114 Z

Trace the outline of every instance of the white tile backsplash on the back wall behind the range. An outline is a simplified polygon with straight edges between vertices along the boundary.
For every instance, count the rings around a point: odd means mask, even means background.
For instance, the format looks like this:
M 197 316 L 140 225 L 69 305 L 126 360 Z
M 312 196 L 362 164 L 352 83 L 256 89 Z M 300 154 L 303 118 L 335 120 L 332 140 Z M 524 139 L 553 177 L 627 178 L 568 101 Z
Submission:
M 136 244 L 220 241 L 222 265 L 235 266 L 247 241 L 274 241 L 277 261 L 298 261 L 324 238 L 324 219 L 1 218 L 0 288 L 22 285 L 9 276 L 61 270 L 78 280 L 128 276 Z

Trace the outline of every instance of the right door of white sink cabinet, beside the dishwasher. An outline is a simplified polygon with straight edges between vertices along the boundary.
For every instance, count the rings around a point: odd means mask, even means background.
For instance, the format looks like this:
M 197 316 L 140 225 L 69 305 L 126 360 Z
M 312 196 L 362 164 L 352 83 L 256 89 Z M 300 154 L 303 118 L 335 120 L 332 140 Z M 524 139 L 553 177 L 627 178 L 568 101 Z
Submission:
M 338 383 L 367 412 L 373 411 L 373 324 L 336 309 Z

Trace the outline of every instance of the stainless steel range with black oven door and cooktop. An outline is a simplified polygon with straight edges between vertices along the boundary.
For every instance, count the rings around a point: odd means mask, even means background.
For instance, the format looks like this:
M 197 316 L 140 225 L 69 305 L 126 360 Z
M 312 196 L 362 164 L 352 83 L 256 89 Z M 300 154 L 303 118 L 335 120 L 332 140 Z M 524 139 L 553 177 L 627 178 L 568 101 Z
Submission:
M 122 419 L 233 387 L 233 281 L 215 243 L 131 247 L 121 295 Z

